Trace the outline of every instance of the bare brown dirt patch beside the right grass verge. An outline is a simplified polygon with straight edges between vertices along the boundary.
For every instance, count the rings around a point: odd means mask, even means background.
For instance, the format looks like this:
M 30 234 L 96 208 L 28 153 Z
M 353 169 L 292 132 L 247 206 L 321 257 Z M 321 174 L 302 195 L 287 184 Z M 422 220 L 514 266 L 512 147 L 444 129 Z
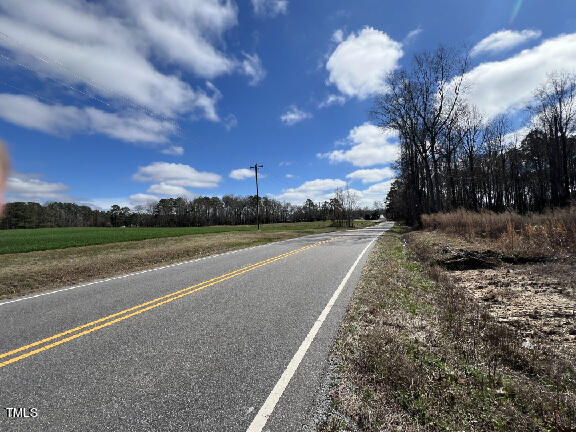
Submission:
M 576 257 L 511 253 L 494 241 L 437 232 L 408 238 L 423 259 L 448 270 L 497 322 L 518 331 L 526 349 L 576 358 Z

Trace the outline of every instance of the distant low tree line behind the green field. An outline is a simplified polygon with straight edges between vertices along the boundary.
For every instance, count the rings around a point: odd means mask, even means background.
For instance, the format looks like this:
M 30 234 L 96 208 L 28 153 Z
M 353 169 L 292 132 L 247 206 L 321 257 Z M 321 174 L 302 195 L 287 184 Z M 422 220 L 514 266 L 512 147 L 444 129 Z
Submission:
M 260 222 L 332 221 L 336 226 L 352 226 L 356 218 L 378 219 L 383 208 L 362 209 L 355 197 L 336 191 L 335 197 L 314 203 L 294 205 L 260 198 Z M 60 227 L 192 227 L 208 225 L 256 224 L 256 196 L 166 198 L 134 210 L 113 205 L 110 210 L 95 210 L 74 203 L 7 203 L 0 229 Z

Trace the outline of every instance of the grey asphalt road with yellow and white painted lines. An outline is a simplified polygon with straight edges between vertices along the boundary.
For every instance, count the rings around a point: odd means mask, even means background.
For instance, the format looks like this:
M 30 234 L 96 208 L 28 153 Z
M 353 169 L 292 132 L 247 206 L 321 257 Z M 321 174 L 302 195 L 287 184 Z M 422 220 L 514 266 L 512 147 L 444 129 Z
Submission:
M 387 228 L 0 302 L 0 431 L 302 430 Z

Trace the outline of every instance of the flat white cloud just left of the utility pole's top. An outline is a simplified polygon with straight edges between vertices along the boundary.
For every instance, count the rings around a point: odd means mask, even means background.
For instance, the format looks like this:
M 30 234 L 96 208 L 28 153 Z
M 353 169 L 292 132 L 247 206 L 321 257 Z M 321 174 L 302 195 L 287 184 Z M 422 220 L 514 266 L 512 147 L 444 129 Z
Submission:
M 132 178 L 143 183 L 195 188 L 215 188 L 222 180 L 218 174 L 196 171 L 190 165 L 168 162 L 154 162 L 138 167 Z

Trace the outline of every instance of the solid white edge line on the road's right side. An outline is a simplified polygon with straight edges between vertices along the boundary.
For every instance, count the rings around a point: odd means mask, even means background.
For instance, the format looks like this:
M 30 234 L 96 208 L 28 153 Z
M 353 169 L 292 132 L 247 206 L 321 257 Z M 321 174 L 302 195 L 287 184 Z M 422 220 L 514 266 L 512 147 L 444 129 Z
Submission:
M 340 282 L 340 285 L 338 286 L 336 291 L 334 291 L 334 294 L 332 294 L 332 297 L 328 301 L 328 304 L 326 305 L 326 307 L 324 308 L 324 310 L 322 311 L 322 313 L 320 314 L 320 316 L 318 317 L 318 319 L 308 332 L 308 335 L 300 345 L 300 348 L 298 348 L 298 351 L 296 351 L 296 354 L 294 354 L 294 357 L 292 357 L 292 360 L 290 360 L 290 363 L 286 367 L 286 370 L 284 371 L 284 373 L 282 374 L 282 376 L 272 389 L 272 392 L 270 392 L 270 395 L 264 402 L 264 405 L 262 405 L 262 407 L 260 408 L 260 411 L 258 411 L 258 414 L 256 414 L 256 417 L 254 417 L 254 420 L 252 420 L 252 423 L 250 423 L 248 429 L 246 429 L 246 432 L 262 431 L 262 429 L 266 425 L 266 422 L 272 415 L 272 412 L 274 411 L 276 404 L 280 400 L 280 397 L 282 397 L 284 390 L 286 390 L 288 383 L 294 376 L 296 369 L 298 369 L 300 362 L 306 355 L 306 352 L 310 348 L 310 345 L 312 345 L 312 342 L 314 341 L 316 334 L 320 330 L 320 327 L 322 327 L 322 324 L 324 323 L 326 317 L 330 313 L 332 306 L 334 306 L 334 303 L 336 303 L 336 300 L 340 296 L 340 293 L 346 286 L 348 279 L 350 279 L 350 276 L 356 269 L 356 266 L 358 266 L 358 263 L 360 262 L 366 251 L 370 248 L 370 246 L 372 246 L 372 244 L 378 239 L 378 237 L 379 236 L 375 237 L 370 243 L 368 243 L 368 245 L 364 248 L 364 250 L 360 253 L 360 255 L 358 255 L 358 258 L 356 258 L 356 261 L 354 261 L 354 264 L 352 264 L 352 267 L 350 267 L 350 270 L 348 270 L 348 273 L 346 273 L 346 276 L 344 276 L 344 279 L 342 279 L 342 282 Z

